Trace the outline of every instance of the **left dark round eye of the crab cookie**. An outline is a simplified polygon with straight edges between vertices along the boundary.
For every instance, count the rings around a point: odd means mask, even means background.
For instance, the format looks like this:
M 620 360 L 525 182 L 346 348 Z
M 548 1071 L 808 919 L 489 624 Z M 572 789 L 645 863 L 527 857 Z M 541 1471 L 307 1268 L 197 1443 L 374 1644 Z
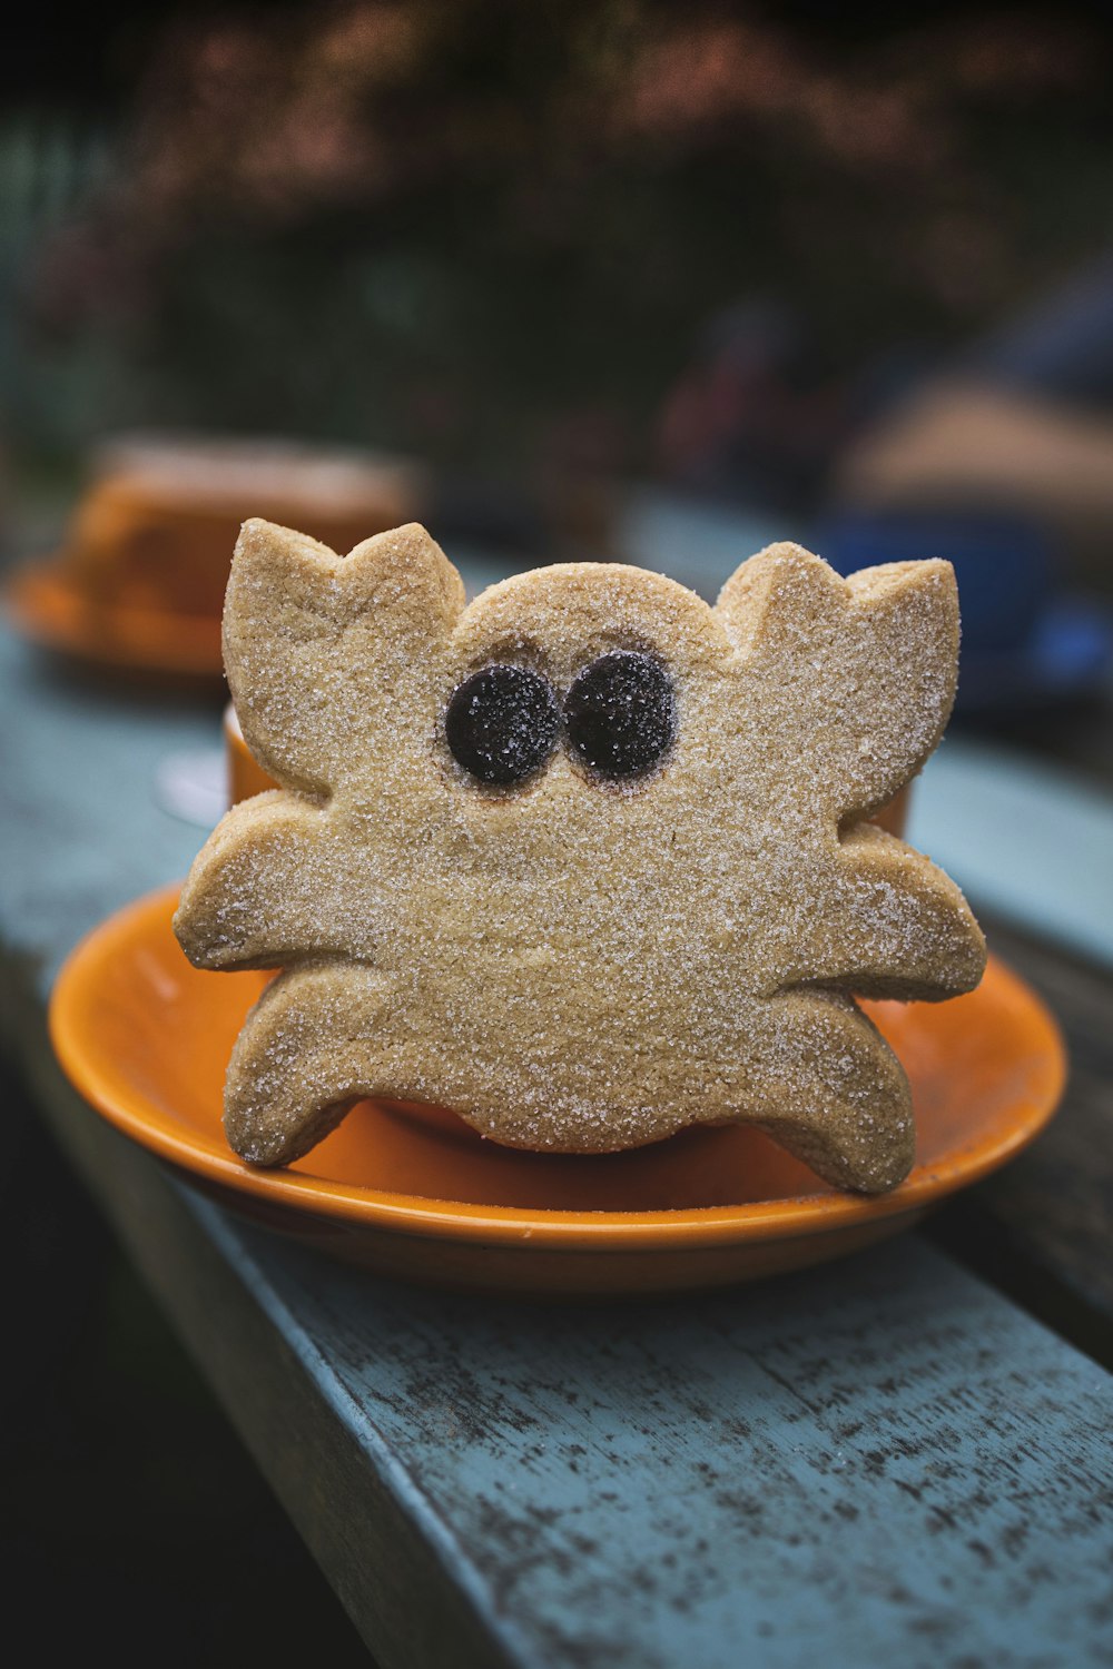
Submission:
M 556 691 L 526 666 L 484 666 L 452 691 L 444 736 L 481 783 L 521 783 L 539 769 L 561 729 Z

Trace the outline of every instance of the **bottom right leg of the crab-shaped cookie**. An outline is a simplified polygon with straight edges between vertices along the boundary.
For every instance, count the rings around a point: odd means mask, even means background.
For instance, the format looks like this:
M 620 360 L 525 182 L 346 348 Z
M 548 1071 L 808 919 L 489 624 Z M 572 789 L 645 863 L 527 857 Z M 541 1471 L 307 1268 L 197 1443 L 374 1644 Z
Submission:
M 836 1188 L 883 1193 L 903 1182 L 916 1148 L 911 1092 L 876 1026 L 826 991 L 774 998 L 769 1023 L 763 1087 L 741 1118 Z

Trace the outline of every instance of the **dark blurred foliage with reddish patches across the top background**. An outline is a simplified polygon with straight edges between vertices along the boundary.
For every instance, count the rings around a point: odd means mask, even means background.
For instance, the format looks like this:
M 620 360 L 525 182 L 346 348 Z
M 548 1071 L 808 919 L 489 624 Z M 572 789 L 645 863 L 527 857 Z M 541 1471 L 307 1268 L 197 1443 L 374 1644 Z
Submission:
M 0 419 L 32 452 L 180 424 L 644 467 L 739 299 L 838 377 L 1095 254 L 1108 58 L 1063 8 L 172 10 L 108 120 L 0 132 Z

